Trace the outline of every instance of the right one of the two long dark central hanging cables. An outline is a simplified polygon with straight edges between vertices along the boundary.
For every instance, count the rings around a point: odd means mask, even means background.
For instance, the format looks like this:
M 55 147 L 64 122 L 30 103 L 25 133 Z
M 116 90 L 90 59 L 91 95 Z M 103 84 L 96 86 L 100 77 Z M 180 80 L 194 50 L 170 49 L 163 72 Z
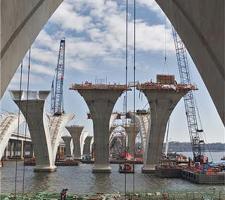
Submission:
M 133 33 L 133 36 L 134 36 L 134 38 L 133 38 L 133 42 L 134 42 L 134 48 L 133 48 L 133 53 L 134 53 L 134 55 L 133 55 L 133 72 L 134 72 L 134 74 L 133 74 L 133 78 L 134 78 L 134 99 L 133 99 L 133 101 L 134 101 L 134 133 L 133 134 L 135 134 L 135 136 L 136 136 L 136 95 L 135 95 L 135 92 L 136 92 L 136 88 L 135 88 L 135 84 L 136 84 L 136 0 L 134 0 L 134 7 L 133 7 L 133 12 L 134 12 L 134 24 L 133 24 L 133 26 L 134 26 L 134 33 Z M 136 137 L 135 137 L 135 139 L 136 139 Z M 134 171 L 134 173 L 135 173 L 135 140 L 134 140 L 134 147 L 133 147 L 133 171 Z M 135 191 L 135 174 L 133 173 L 133 194 L 134 194 L 134 191 Z

